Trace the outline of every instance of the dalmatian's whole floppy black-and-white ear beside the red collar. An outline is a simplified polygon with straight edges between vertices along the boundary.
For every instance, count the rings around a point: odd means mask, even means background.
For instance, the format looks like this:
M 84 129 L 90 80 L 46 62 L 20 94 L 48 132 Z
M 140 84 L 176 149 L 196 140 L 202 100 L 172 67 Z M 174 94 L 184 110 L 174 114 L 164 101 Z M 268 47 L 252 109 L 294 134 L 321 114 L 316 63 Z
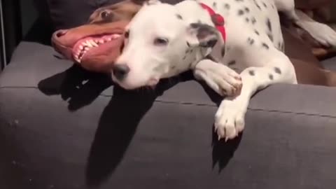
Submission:
M 202 48 L 213 48 L 219 38 L 218 30 L 215 27 L 202 23 L 191 23 L 187 32 L 188 43 Z

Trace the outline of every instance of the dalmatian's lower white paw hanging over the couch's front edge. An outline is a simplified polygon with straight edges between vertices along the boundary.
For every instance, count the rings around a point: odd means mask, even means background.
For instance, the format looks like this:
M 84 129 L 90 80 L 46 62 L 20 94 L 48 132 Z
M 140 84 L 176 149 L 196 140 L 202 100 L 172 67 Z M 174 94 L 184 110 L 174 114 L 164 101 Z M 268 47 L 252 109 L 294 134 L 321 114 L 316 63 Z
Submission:
M 246 108 L 237 99 L 224 99 L 215 116 L 215 131 L 218 140 L 235 139 L 245 126 Z

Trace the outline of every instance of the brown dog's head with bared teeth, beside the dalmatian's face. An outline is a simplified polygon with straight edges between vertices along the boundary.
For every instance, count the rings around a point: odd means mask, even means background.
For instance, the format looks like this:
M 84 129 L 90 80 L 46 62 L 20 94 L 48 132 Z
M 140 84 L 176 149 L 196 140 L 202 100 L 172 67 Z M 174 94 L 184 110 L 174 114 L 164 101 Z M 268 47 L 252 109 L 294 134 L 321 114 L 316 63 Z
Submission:
M 52 45 L 87 70 L 109 72 L 120 55 L 124 28 L 141 5 L 141 0 L 126 0 L 99 8 L 90 15 L 87 25 L 55 31 Z

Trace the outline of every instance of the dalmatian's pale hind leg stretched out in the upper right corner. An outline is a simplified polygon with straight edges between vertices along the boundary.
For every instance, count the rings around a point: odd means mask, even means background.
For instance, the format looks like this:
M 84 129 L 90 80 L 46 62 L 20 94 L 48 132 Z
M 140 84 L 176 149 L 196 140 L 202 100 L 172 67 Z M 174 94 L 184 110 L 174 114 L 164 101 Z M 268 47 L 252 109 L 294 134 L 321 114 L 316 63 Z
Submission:
M 279 11 L 285 13 L 290 20 L 307 31 L 316 41 L 325 47 L 336 48 L 336 31 L 331 27 L 316 22 L 301 10 L 295 9 L 294 0 L 275 0 L 274 2 Z

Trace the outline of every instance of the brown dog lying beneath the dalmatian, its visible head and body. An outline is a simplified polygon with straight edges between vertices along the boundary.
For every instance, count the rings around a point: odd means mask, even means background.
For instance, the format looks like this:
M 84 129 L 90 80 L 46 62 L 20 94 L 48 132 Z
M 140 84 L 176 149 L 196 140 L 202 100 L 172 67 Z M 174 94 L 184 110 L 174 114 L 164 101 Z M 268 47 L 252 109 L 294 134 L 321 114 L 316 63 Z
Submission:
M 52 35 L 55 50 L 80 63 L 87 70 L 111 72 L 113 62 L 123 48 L 123 29 L 144 1 L 146 0 L 126 0 L 99 8 L 92 13 L 87 25 L 55 31 Z M 109 38 L 113 35 L 118 37 Z M 285 53 L 295 66 L 298 83 L 336 86 L 336 73 L 323 69 L 295 28 L 283 27 L 283 38 L 286 44 Z M 78 44 L 83 44 L 80 47 L 83 49 L 78 51 Z

